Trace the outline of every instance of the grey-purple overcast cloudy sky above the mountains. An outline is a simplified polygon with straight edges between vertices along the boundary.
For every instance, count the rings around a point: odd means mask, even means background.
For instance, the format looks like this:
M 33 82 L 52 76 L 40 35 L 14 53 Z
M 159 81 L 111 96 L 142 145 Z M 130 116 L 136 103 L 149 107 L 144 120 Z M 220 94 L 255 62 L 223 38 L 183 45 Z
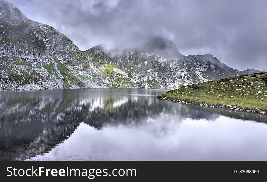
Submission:
M 8 0 L 80 50 L 170 39 L 183 55 L 212 54 L 239 70 L 267 70 L 266 0 Z

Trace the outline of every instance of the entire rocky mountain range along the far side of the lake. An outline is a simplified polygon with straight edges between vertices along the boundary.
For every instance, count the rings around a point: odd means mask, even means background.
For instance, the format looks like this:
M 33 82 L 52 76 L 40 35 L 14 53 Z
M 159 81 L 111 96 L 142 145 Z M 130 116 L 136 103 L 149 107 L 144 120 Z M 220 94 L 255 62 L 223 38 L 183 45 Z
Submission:
M 139 48 L 80 51 L 66 35 L 0 0 L 0 90 L 179 87 L 251 71 L 213 55 L 181 55 L 160 36 Z

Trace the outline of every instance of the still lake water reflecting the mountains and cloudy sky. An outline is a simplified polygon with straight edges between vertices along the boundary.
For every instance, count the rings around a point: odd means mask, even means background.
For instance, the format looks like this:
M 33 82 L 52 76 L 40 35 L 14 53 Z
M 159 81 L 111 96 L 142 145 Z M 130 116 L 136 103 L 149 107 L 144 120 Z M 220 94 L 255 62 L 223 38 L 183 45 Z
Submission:
M 267 115 L 156 98 L 168 90 L 0 92 L 0 160 L 267 160 Z

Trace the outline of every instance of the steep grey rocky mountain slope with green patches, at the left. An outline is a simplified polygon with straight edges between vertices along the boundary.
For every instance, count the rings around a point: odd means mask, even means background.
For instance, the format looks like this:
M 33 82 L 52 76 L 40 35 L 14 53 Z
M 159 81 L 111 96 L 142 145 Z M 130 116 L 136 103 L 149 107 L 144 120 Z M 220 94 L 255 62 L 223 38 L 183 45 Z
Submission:
M 0 1 L 0 12 L 0 81 L 5 85 L 0 89 L 107 87 L 109 81 L 65 35 L 29 20 L 6 1 Z M 8 70 L 16 70 L 16 81 Z M 22 71 L 43 79 L 32 81 Z

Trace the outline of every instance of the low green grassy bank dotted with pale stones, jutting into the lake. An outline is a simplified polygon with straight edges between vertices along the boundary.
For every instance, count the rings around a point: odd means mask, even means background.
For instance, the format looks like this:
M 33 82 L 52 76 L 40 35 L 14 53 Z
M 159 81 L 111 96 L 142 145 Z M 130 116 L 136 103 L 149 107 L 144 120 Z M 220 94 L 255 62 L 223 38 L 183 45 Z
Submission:
M 266 112 L 267 72 L 184 86 L 158 98 L 216 108 Z

